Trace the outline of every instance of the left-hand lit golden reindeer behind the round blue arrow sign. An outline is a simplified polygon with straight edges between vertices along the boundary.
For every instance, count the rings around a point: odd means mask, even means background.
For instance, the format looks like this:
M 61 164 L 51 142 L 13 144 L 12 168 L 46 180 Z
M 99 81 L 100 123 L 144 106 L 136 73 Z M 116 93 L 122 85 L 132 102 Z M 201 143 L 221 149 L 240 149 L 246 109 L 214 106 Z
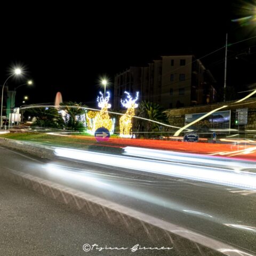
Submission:
M 93 118 L 90 118 L 91 129 L 87 130 L 89 133 L 94 134 L 95 131 L 100 127 L 105 127 L 110 134 L 114 133 L 115 119 L 114 118 L 110 119 L 108 115 L 108 108 L 111 107 L 111 105 L 108 103 L 109 99 L 110 99 L 109 92 L 107 92 L 106 97 L 104 97 L 102 92 L 100 92 L 100 97 L 98 96 L 97 101 L 99 102 L 98 106 L 101 108 L 101 110 Z M 89 111 L 89 112 L 92 112 L 92 111 Z M 93 116 L 92 113 L 90 113 L 90 115 Z

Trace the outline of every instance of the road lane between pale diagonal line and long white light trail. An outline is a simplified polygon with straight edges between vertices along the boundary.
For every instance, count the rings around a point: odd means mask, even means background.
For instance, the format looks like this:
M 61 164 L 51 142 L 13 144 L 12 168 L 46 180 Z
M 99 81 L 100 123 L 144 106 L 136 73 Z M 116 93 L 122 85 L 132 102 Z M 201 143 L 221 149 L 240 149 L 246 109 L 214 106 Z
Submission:
M 6 171 L 58 182 L 217 239 L 247 255 L 256 254 L 256 191 L 61 158 L 45 161 L 5 148 L 0 148 L 0 161 Z M 170 167 L 175 165 L 170 163 Z M 75 233 L 79 232 L 67 237 Z M 122 237 L 121 241 L 129 239 Z

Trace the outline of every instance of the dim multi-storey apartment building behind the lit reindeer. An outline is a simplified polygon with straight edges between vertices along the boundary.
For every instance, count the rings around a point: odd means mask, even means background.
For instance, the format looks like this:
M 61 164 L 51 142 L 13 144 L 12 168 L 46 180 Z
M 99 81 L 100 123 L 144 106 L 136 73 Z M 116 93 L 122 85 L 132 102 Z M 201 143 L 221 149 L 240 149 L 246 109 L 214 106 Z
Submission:
M 130 67 L 115 76 L 114 108 L 120 109 L 124 91 L 140 92 L 140 100 L 164 108 L 215 102 L 215 79 L 193 55 L 162 56 L 147 67 Z

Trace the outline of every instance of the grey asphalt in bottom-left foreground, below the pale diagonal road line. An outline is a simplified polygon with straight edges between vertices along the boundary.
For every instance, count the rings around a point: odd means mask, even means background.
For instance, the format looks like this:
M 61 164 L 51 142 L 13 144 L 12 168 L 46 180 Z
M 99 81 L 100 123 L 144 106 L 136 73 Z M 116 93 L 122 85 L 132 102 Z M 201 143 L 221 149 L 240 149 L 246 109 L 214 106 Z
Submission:
M 140 228 L 127 232 L 122 225 L 111 225 L 100 215 L 71 209 L 54 199 L 37 194 L 0 176 L 0 255 L 177 255 L 174 250 L 131 248 L 172 245 L 162 237 L 151 239 Z M 100 247 L 127 247 L 126 250 L 83 251 L 84 244 Z M 170 246 L 172 247 L 172 246 Z M 88 248 L 88 247 L 87 247 Z

